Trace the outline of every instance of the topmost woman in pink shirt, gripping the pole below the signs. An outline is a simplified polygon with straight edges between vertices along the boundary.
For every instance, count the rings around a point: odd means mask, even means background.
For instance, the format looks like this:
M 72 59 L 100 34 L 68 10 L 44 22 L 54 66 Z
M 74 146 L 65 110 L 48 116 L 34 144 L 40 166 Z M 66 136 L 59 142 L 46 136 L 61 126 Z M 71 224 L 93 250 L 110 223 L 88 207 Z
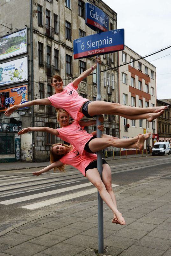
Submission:
M 96 62 L 101 63 L 100 57 Z M 24 108 L 32 105 L 52 105 L 55 108 L 63 108 L 76 121 L 79 121 L 82 116 L 94 117 L 95 115 L 119 115 L 127 119 L 148 119 L 152 122 L 158 116 L 163 114 L 163 110 L 168 106 L 150 107 L 150 108 L 136 108 L 124 106 L 119 103 L 112 103 L 106 101 L 90 101 L 82 98 L 76 89 L 78 84 L 87 77 L 95 68 L 95 63 L 91 68 L 84 71 L 72 83 L 63 88 L 63 81 L 60 76 L 52 76 L 51 85 L 54 87 L 55 94 L 46 98 L 25 102 L 23 104 L 15 105 L 5 111 L 5 116 L 10 116 L 14 110 Z M 146 117 L 143 116 L 146 115 Z

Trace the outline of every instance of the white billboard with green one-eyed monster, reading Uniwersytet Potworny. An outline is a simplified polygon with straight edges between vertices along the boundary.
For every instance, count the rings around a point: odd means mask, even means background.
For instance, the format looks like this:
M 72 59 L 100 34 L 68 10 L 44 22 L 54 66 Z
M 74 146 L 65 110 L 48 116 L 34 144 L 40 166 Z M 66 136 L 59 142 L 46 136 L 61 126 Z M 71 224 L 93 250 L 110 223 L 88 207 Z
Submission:
M 0 86 L 27 80 L 27 57 L 0 63 Z

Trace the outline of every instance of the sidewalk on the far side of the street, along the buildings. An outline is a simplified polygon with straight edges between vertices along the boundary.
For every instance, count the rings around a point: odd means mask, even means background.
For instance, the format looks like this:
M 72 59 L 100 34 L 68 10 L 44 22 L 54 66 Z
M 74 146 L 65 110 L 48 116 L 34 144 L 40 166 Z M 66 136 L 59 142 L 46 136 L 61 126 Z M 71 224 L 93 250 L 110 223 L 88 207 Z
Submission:
M 146 154 L 143 154 L 143 156 L 146 156 Z M 137 155 L 128 155 L 127 158 L 134 158 L 134 157 L 143 157 L 141 154 Z M 151 155 L 147 155 L 147 156 L 151 156 Z M 104 157 L 105 159 L 105 157 Z M 112 160 L 113 157 L 110 156 L 108 158 L 106 158 L 108 160 Z M 114 156 L 114 160 L 117 159 L 126 159 L 126 156 Z M 22 170 L 22 169 L 30 169 L 30 168 L 37 168 L 37 167 L 45 167 L 47 165 L 49 165 L 50 162 L 32 162 L 32 163 L 28 163 L 28 162 L 23 162 L 23 161 L 18 161 L 15 163 L 0 163 L 0 172 L 1 171 L 12 171 L 12 170 Z M 0 255 L 1 256 L 1 255 Z

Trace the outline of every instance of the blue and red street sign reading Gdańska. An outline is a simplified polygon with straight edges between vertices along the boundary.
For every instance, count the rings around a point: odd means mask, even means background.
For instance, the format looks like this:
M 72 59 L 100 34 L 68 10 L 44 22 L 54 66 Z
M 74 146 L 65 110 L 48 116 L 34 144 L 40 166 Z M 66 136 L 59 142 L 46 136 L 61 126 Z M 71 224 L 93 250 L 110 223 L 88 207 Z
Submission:
M 109 17 L 93 4 L 86 3 L 86 25 L 102 32 L 109 30 Z

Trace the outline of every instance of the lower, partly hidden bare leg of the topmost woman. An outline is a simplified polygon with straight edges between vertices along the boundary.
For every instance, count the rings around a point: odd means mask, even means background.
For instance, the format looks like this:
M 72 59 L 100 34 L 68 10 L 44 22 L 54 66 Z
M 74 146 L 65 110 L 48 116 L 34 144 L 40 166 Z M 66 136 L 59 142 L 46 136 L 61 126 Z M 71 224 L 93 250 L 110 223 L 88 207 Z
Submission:
M 152 122 L 155 118 L 161 116 L 163 113 L 164 113 L 164 110 L 161 110 L 160 112 L 157 112 L 157 113 L 148 113 L 148 114 L 139 114 L 139 115 L 125 115 L 121 113 L 115 113 L 115 115 L 123 116 L 130 120 L 148 119 L 149 122 Z

